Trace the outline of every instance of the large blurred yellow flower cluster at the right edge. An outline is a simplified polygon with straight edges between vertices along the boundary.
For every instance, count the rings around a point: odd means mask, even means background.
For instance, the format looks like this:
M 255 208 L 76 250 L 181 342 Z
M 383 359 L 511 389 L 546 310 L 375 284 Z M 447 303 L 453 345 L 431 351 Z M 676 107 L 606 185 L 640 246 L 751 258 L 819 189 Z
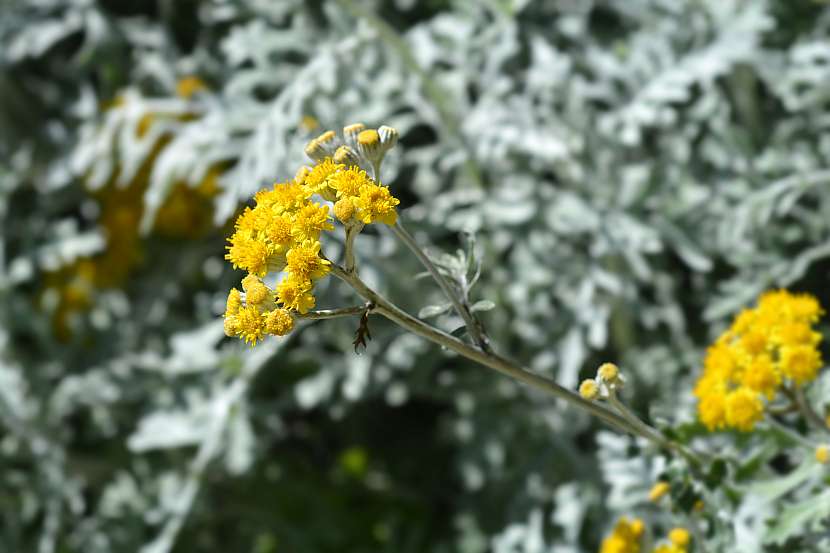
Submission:
M 735 317 L 706 353 L 694 389 L 700 421 L 710 431 L 751 431 L 763 417 L 764 398 L 815 379 L 822 359 L 813 325 L 822 314 L 813 296 L 778 290 Z

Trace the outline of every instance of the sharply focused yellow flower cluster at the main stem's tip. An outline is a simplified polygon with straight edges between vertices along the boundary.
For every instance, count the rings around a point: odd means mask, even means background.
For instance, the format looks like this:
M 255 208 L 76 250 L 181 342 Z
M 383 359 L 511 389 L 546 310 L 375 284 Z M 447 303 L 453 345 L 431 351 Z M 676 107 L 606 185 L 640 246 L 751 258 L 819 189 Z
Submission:
M 342 155 L 343 148 L 349 148 L 349 155 Z M 242 280 L 244 294 L 234 288 L 228 296 L 228 336 L 251 344 L 266 334 L 283 336 L 293 328 L 295 313 L 306 314 L 314 308 L 314 286 L 331 266 L 320 253 L 321 234 L 334 230 L 330 205 L 334 216 L 357 232 L 367 224 L 394 225 L 397 221 L 399 201 L 386 186 L 375 182 L 359 164 L 335 161 L 360 163 L 361 157 L 348 145 L 340 146 L 333 131 L 312 140 L 306 152 L 317 164 L 302 167 L 292 181 L 258 192 L 255 207 L 239 216 L 228 239 L 225 259 L 235 269 L 248 272 Z M 272 290 L 262 279 L 279 272 L 283 277 Z

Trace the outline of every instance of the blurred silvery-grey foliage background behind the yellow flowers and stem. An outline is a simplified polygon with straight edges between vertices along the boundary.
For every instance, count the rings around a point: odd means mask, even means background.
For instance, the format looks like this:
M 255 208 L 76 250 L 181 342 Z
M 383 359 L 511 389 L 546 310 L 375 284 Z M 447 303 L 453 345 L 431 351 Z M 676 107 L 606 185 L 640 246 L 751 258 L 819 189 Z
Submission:
M 229 221 L 324 129 L 398 128 L 383 180 L 431 251 L 480 258 L 501 351 L 568 387 L 617 360 L 658 424 L 694 419 L 703 349 L 761 291 L 830 305 L 826 3 L 0 10 L 3 551 L 566 553 L 620 512 L 673 524 L 642 444 L 383 321 L 362 355 L 352 320 L 224 338 Z M 390 234 L 359 253 L 442 305 Z M 322 306 L 355 301 L 329 280 Z M 713 550 L 812 551 L 809 521 L 765 534 L 780 508 Z

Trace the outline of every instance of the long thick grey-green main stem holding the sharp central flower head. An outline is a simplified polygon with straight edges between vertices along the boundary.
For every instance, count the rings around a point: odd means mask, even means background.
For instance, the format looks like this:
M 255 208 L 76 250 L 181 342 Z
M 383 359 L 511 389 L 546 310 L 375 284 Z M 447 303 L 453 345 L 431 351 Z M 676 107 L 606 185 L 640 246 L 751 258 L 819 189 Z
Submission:
M 518 380 L 519 382 L 523 382 L 524 384 L 536 388 L 541 392 L 558 399 L 562 399 L 571 405 L 576 405 L 588 411 L 592 415 L 602 419 L 605 423 L 617 428 L 618 430 L 622 430 L 623 432 L 627 432 L 635 436 L 642 436 L 659 447 L 672 447 L 672 449 L 679 451 L 677 447 L 667 445 L 670 444 L 670 442 L 660 436 L 656 429 L 651 428 L 647 424 L 643 422 L 640 422 L 640 424 L 632 424 L 625 417 L 615 413 L 607 407 L 604 407 L 599 403 L 583 399 L 579 394 L 564 388 L 552 380 L 514 364 L 512 361 L 501 357 L 496 353 L 485 352 L 473 347 L 458 338 L 447 334 L 443 330 L 430 326 L 420 319 L 413 317 L 391 301 L 387 300 L 384 296 L 369 288 L 362 280 L 360 280 L 359 277 L 357 277 L 357 275 L 347 272 L 343 267 L 340 267 L 336 263 L 332 263 L 331 271 L 337 278 L 351 286 L 361 297 L 372 302 L 374 304 L 373 311 L 383 315 L 405 330 L 444 346 L 447 349 L 466 357 L 467 359 L 505 374 L 515 380 Z M 699 459 L 693 454 L 691 454 L 691 458 L 687 457 L 687 459 L 690 461 L 693 460 L 696 463 L 700 462 Z

